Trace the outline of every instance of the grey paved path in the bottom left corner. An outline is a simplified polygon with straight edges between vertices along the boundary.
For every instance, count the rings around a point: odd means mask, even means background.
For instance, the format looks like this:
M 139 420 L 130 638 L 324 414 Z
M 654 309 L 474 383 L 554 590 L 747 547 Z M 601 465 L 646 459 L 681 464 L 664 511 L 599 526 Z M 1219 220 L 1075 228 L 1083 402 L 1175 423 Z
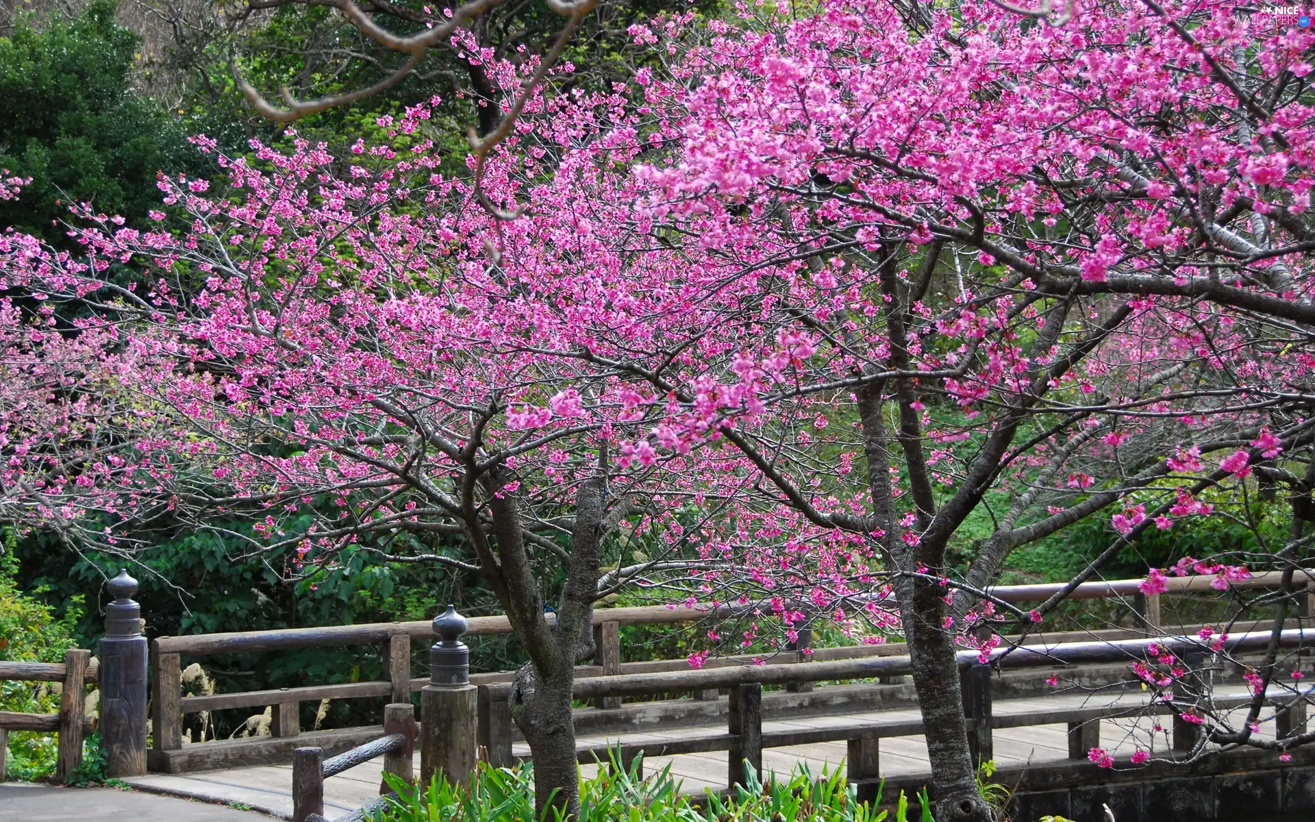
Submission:
M 249 810 L 113 788 L 0 785 L 0 822 L 270 822 Z

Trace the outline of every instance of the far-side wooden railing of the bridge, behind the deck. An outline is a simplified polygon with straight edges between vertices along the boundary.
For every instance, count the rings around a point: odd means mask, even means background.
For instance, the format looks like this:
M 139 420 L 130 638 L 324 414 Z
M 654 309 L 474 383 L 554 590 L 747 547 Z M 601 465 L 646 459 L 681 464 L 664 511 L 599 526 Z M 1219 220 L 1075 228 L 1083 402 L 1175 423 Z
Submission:
M 1298 575 L 1298 587 L 1304 587 L 1315 581 L 1315 571 Z M 1252 579 L 1235 583 L 1239 588 L 1272 588 L 1279 583 L 1279 572 L 1266 572 Z M 1143 623 L 1141 630 L 1114 630 L 1098 631 L 1110 641 L 1124 639 L 1134 635 L 1145 635 L 1162 622 L 1161 596 L 1145 597 L 1140 593 L 1141 580 L 1114 580 L 1099 583 L 1085 583 L 1078 585 L 1070 594 L 1073 600 L 1103 600 L 1124 598 L 1136 608 Z M 1174 577 L 1168 581 L 1168 594 L 1184 594 L 1191 592 L 1215 593 L 1211 588 L 1210 577 Z M 1041 585 L 1001 585 L 989 589 L 993 597 L 1007 602 L 1039 602 L 1049 598 L 1061 591 L 1061 584 Z M 1308 610 L 1308 602 L 1315 594 L 1307 593 L 1302 597 Z M 707 668 L 701 672 L 690 672 L 685 659 L 652 660 L 638 663 L 621 662 L 621 626 L 623 625 L 675 625 L 701 619 L 715 619 L 736 613 L 752 612 L 753 606 L 719 606 L 719 608 L 610 608 L 596 612 L 596 641 L 597 656 L 593 665 L 580 665 L 576 668 L 579 685 L 600 680 L 602 677 L 615 677 L 626 675 L 656 675 L 663 672 L 676 673 L 702 673 L 717 669 L 742 668 L 752 658 L 727 658 L 707 662 Z M 552 619 L 552 616 L 546 616 Z M 510 625 L 504 616 L 472 617 L 468 619 L 467 635 L 496 635 L 510 631 Z M 1072 639 L 1089 635 L 1090 633 L 1077 633 L 1059 635 L 1056 639 Z M 197 634 L 185 637 L 160 637 L 151 642 L 151 689 L 154 693 L 154 747 L 150 752 L 150 768 L 153 771 L 180 772 L 201 771 L 218 767 L 231 767 L 239 764 L 259 764 L 268 762 L 285 762 L 292 756 L 296 747 L 316 744 L 326 751 L 346 750 L 360 744 L 364 740 L 379 735 L 379 727 L 343 729 L 339 731 L 313 731 L 302 733 L 299 725 L 299 705 L 302 701 L 359 698 L 359 697 L 387 697 L 389 702 L 409 702 L 412 693 L 422 690 L 430 680 L 410 676 L 412 641 L 433 641 L 433 626 L 430 622 L 393 622 L 348 625 L 330 627 L 283 629 L 272 631 L 242 631 L 229 634 Z M 277 651 L 288 648 L 335 647 L 352 644 L 376 644 L 383 656 L 384 679 L 366 683 L 342 683 L 329 685 L 306 685 L 300 688 L 284 688 L 276 690 L 249 690 L 237 693 L 222 693 L 212 696 L 181 696 L 181 658 Z M 775 668 L 780 663 L 802 663 L 813 665 L 826 662 L 840 660 L 867 660 L 872 658 L 898 656 L 903 646 L 898 643 L 885 646 L 859 646 L 839 648 L 810 648 L 809 633 L 801 631 L 800 642 L 788 652 L 777 654 L 767 662 Z M 810 651 L 810 652 L 806 652 Z M 819 669 L 821 671 L 821 669 Z M 471 675 L 472 685 L 493 687 L 510 681 L 513 672 L 475 673 Z M 902 677 L 902 673 L 890 669 L 865 676 L 878 676 L 882 681 L 893 683 Z M 789 689 L 807 690 L 815 681 L 835 680 L 844 677 L 832 676 L 801 676 L 797 680 L 782 680 Z M 693 693 L 698 700 L 718 698 L 715 685 L 698 685 L 697 677 L 680 677 L 672 680 L 672 687 L 665 690 L 644 692 L 644 696 L 656 693 Z M 479 704 L 481 727 L 506 727 L 510 722 L 510 713 L 505 705 L 497 700 L 488 698 L 493 690 L 485 692 Z M 615 709 L 621 705 L 621 696 L 617 693 L 592 693 L 600 709 Z M 235 708 L 271 708 L 271 735 L 260 739 L 239 739 L 224 742 L 203 742 L 183 746 L 183 715 L 188 713 L 235 709 Z M 481 738 L 498 750 L 510 744 L 510 738 L 500 740 L 480 731 Z

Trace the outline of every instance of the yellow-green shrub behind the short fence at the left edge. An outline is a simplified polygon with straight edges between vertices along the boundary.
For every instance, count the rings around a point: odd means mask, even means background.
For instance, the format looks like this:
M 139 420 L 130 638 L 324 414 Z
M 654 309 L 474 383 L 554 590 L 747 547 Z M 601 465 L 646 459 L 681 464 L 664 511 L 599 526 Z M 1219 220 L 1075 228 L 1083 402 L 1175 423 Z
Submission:
M 78 647 L 74 626 L 82 616 L 82 597 L 74 597 L 63 616 L 37 596 L 25 594 L 14 581 L 18 563 L 13 555 L 14 537 L 5 531 L 0 551 L 0 660 L 63 662 L 64 651 Z M 59 712 L 59 694 L 49 683 L 0 683 L 0 710 L 29 714 Z M 36 780 L 55 769 L 58 739 L 54 734 L 14 731 L 9 734 L 9 776 Z

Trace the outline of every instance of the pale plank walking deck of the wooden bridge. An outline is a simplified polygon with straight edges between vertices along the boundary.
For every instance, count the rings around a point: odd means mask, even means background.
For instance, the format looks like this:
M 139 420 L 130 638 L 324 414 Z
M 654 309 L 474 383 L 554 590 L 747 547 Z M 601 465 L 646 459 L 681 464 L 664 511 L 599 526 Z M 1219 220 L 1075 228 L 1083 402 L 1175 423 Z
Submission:
M 997 721 L 1020 715 L 1044 715 L 1070 709 L 1136 709 L 1145 705 L 1140 693 L 1127 694 L 1069 694 L 1020 700 L 997 700 L 994 715 Z M 920 717 L 917 709 L 878 710 L 868 713 L 838 714 L 825 717 L 801 717 L 797 719 L 771 719 L 763 722 L 763 733 L 801 731 L 822 727 L 852 729 L 861 725 L 889 725 L 914 722 Z M 1168 718 L 1160 718 L 1168 723 Z M 1136 747 L 1145 747 L 1148 734 L 1156 718 L 1119 718 L 1101 721 L 1101 744 L 1115 756 L 1131 755 Z M 1272 723 L 1270 723 L 1272 725 Z M 593 747 L 615 742 L 627 744 L 660 743 L 688 738 L 697 734 L 725 733 L 725 723 L 706 727 L 673 727 L 667 733 L 644 734 L 598 734 L 581 735 L 580 747 Z M 1273 727 L 1262 726 L 1261 735 L 1273 735 Z M 1140 743 L 1140 744 L 1139 744 Z M 1156 740 L 1156 750 L 1164 750 L 1165 735 Z M 514 746 L 517 755 L 527 755 L 523 743 Z M 789 773 L 797 764 L 806 763 L 814 773 L 822 768 L 843 767 L 846 756 L 844 742 L 772 747 L 763 750 L 763 767 L 780 775 Z M 1001 727 L 994 731 L 994 758 L 999 767 L 1043 765 L 1065 762 L 1068 756 L 1066 725 L 1028 725 L 1024 727 Z M 727 754 L 725 751 L 707 754 L 684 754 L 677 756 L 655 756 L 644 760 L 644 773 L 652 775 L 671 765 L 672 775 L 682 783 L 686 793 L 701 793 L 704 789 L 722 789 L 726 785 Z M 920 735 L 892 737 L 881 739 L 881 775 L 914 776 L 928 773 L 927 746 Z M 419 768 L 419 755 L 416 756 L 416 769 Z M 592 775 L 597 765 L 581 765 L 585 776 Z M 358 765 L 339 776 L 325 780 L 325 811 L 330 818 L 355 810 L 379 794 L 381 760 L 375 759 Z M 208 771 L 203 773 L 147 775 L 126 780 L 138 789 L 187 796 L 210 802 L 237 804 L 262 810 L 279 818 L 292 817 L 292 765 L 259 765 Z

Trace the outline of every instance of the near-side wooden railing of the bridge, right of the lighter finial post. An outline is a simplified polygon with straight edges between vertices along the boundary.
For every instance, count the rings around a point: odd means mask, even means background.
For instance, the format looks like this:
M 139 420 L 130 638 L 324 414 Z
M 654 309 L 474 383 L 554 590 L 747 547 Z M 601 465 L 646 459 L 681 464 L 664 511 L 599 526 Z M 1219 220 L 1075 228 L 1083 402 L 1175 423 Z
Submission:
M 1258 651 L 1265 648 L 1273 637 L 1272 631 L 1249 631 L 1230 637 L 1223 650 L 1232 654 Z M 1189 664 L 1201 665 L 1202 641 L 1199 637 L 1157 637 L 1151 639 L 1064 642 L 1057 644 L 1028 644 L 1015 648 L 995 648 L 988 663 L 982 663 L 978 652 L 959 654 L 960 684 L 963 690 L 964 717 L 968 725 L 969 747 L 977 762 L 993 759 L 993 729 L 1027 727 L 1035 725 L 1068 725 L 1068 755 L 1070 759 L 1086 759 L 1091 748 L 1099 747 L 1099 721 L 1128 715 L 1173 714 L 1173 750 L 1191 751 L 1201 738 L 1201 726 L 1185 721 L 1180 713 L 1166 705 L 1112 705 L 1051 709 L 1044 713 L 1023 713 L 997 715 L 993 710 L 992 671 L 998 668 L 1055 668 L 1061 665 L 1130 663 L 1144 659 L 1148 647 L 1172 650 Z M 1315 629 L 1285 630 L 1279 637 L 1281 647 L 1311 647 L 1315 644 Z M 671 673 L 638 673 L 605 676 L 580 680 L 575 684 L 575 697 L 638 697 L 671 690 L 693 690 L 700 688 L 725 688 L 730 692 L 730 712 L 726 733 L 702 730 L 673 742 L 644 742 L 622 746 L 581 746 L 577 748 L 580 763 L 606 762 L 609 755 L 617 755 L 621 763 L 631 767 L 635 756 L 673 756 L 680 754 L 701 754 L 727 751 L 727 788 L 744 784 L 747 762 L 755 771 L 761 771 L 763 748 L 817 744 L 823 742 L 846 742 L 848 746 L 847 776 L 863 785 L 860 798 L 871 796 L 880 779 L 880 740 L 892 737 L 911 737 L 923 733 L 920 719 L 889 718 L 847 723 L 843 727 L 817 727 L 809 730 L 763 731 L 763 687 L 817 683 L 825 680 L 844 681 L 856 679 L 876 679 L 881 676 L 906 675 L 913 672 L 911 660 L 906 655 L 877 659 L 847 659 L 819 662 L 810 665 L 780 667 L 736 667 L 702 671 L 682 671 Z M 1194 675 L 1195 676 L 1195 675 Z M 1199 683 L 1197 683 L 1199 688 Z M 481 719 L 488 721 L 480 729 L 479 743 L 489 751 L 489 762 L 497 767 L 523 762 L 526 756 L 512 755 L 510 712 L 506 708 L 510 687 L 505 684 L 481 685 Z M 1140 696 L 1140 692 L 1137 692 Z M 1276 730 L 1279 737 L 1299 729 L 1306 722 L 1306 697 L 1291 693 L 1266 693 L 1268 705 L 1278 705 Z M 1251 704 L 1249 692 L 1212 694 L 1211 704 L 1216 709 Z

